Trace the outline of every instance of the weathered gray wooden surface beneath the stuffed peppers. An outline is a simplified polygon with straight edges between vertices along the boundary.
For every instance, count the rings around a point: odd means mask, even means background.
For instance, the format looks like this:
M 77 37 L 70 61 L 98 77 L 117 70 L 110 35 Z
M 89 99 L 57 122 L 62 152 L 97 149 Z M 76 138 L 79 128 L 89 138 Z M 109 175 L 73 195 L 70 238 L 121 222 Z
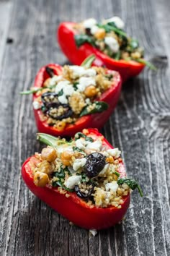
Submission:
M 0 255 L 170 255 L 169 0 L 0 1 Z M 102 132 L 121 148 L 128 176 L 140 182 L 125 221 L 96 237 L 40 202 L 22 181 L 35 140 L 30 88 L 38 69 L 67 60 L 55 40 L 62 21 L 122 17 L 146 49 L 146 68 L 122 88 Z

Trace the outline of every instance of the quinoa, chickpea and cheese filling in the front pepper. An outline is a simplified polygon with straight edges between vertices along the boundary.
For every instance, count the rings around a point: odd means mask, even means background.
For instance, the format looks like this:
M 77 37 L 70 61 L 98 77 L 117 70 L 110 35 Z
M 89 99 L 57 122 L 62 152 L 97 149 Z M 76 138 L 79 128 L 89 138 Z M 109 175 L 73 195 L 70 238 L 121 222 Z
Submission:
M 108 149 L 102 136 L 96 139 L 85 134 L 78 132 L 70 142 L 58 139 L 55 148 L 48 146 L 36 153 L 40 163 L 32 167 L 34 183 L 58 187 L 66 197 L 76 192 L 91 208 L 121 208 L 123 197 L 131 191 L 128 184 L 120 182 L 121 152 Z

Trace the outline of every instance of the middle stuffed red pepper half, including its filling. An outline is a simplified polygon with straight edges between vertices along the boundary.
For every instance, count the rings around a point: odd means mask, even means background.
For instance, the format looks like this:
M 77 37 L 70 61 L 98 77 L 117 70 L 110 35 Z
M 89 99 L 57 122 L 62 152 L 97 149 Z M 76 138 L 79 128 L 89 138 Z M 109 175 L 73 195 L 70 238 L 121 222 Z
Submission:
M 50 135 L 73 136 L 88 127 L 102 127 L 120 97 L 121 77 L 103 67 L 48 64 L 35 78 L 33 93 L 37 129 Z

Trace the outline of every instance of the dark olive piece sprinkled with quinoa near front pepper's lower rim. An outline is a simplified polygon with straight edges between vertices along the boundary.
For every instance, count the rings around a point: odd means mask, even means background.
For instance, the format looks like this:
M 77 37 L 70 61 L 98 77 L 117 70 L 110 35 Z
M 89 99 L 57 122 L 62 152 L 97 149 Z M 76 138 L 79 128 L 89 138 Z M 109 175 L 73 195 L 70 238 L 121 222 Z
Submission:
M 92 184 L 91 182 L 87 182 L 87 183 L 84 182 L 84 183 L 81 183 L 80 185 L 76 185 L 74 187 L 74 190 L 76 192 L 76 195 L 78 195 L 78 197 L 87 199 L 91 196 L 92 192 L 94 191 L 94 184 Z

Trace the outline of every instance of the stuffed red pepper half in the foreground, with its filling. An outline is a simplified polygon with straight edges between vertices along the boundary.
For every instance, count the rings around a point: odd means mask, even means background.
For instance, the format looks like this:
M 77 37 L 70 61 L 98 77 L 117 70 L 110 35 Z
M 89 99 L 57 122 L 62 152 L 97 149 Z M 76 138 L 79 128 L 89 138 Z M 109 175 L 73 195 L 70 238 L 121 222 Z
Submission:
M 51 208 L 84 229 L 106 229 L 125 216 L 130 192 L 120 150 L 97 129 L 84 129 L 73 140 L 38 134 L 48 147 L 27 159 L 22 177 L 27 187 Z

